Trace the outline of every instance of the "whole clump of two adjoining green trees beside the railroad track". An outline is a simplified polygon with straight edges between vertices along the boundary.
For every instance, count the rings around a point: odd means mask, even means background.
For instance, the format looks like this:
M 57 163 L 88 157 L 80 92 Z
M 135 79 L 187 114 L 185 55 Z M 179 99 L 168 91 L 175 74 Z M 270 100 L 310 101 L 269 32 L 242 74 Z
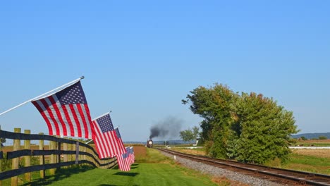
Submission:
M 286 160 L 291 135 L 298 132 L 293 112 L 262 94 L 215 84 L 193 89 L 182 103 L 204 119 L 200 137 L 212 157 L 259 164 Z

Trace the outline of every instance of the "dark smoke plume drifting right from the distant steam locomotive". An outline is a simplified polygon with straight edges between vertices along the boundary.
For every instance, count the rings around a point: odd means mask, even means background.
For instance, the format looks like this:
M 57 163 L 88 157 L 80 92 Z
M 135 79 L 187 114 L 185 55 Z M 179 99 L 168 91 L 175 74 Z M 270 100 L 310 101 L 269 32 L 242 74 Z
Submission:
M 178 137 L 181 130 L 181 125 L 183 121 L 175 117 L 167 117 L 164 120 L 159 121 L 150 128 L 151 140 L 154 137 L 164 138 L 164 137 Z

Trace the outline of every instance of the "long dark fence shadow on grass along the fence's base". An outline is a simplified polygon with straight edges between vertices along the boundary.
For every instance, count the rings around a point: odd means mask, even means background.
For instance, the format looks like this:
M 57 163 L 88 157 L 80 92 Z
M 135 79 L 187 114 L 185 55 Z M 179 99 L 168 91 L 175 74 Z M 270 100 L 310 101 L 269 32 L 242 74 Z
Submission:
M 63 180 L 65 178 L 69 178 L 71 175 L 83 173 L 85 171 L 90 171 L 94 169 L 92 166 L 77 166 L 73 168 L 61 168 L 58 171 L 56 171 L 55 175 L 47 175 L 44 179 L 39 178 L 37 180 L 33 180 L 32 182 L 27 182 L 24 184 L 24 186 L 31 185 L 31 186 L 37 186 L 37 185 L 50 185 L 53 182 Z

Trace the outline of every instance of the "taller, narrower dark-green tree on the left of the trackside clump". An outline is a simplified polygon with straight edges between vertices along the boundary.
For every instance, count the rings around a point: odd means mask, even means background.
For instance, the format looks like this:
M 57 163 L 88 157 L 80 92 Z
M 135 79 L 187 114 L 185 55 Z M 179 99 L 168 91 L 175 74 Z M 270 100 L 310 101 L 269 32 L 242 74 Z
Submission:
M 226 158 L 228 129 L 231 123 L 230 106 L 236 99 L 226 85 L 215 84 L 214 87 L 197 87 L 188 94 L 183 104 L 190 104 L 190 110 L 204 118 L 200 127 L 201 137 L 209 156 Z

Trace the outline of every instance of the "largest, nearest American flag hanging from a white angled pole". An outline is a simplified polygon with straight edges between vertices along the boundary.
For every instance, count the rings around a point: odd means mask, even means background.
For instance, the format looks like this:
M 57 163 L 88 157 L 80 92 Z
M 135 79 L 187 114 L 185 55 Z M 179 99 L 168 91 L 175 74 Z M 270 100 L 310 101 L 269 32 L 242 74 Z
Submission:
M 93 128 L 80 81 L 48 97 L 32 101 L 47 123 L 49 135 L 92 139 Z

